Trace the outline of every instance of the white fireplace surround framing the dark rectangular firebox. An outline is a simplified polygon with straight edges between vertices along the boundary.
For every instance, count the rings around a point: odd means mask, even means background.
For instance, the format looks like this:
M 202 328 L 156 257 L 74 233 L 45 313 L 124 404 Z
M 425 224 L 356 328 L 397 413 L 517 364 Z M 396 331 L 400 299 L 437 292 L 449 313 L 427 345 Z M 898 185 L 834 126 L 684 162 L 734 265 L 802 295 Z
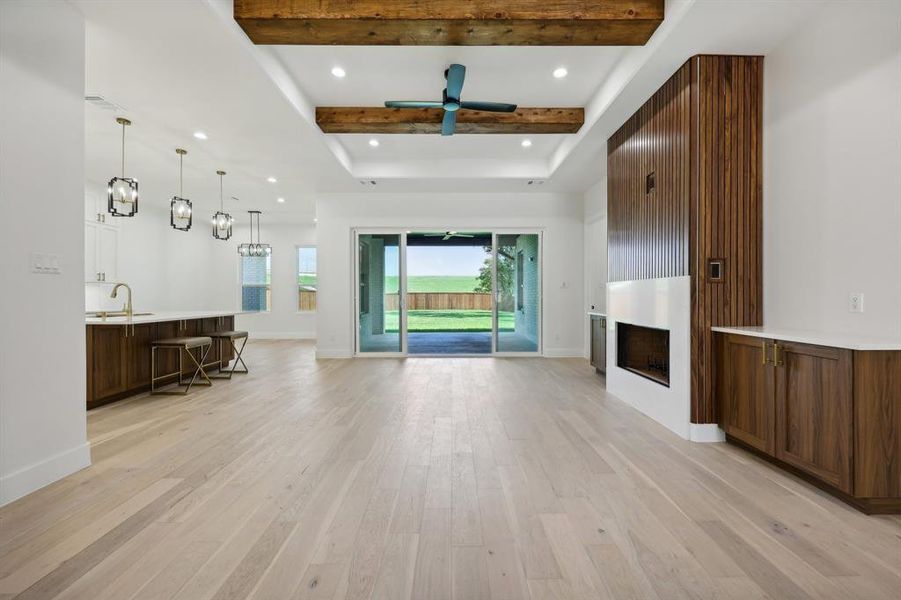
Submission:
M 669 331 L 669 387 L 617 366 L 619 323 Z M 691 277 L 608 283 L 607 348 L 608 392 L 687 440 L 725 439 L 716 425 L 691 422 Z

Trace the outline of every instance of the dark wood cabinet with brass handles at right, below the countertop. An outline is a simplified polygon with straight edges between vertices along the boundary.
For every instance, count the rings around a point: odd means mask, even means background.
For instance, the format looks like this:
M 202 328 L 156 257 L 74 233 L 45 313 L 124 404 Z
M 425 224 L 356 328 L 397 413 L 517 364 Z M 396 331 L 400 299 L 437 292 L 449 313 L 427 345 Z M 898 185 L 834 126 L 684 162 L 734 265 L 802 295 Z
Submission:
M 865 512 L 901 511 L 901 352 L 717 334 L 727 440 Z

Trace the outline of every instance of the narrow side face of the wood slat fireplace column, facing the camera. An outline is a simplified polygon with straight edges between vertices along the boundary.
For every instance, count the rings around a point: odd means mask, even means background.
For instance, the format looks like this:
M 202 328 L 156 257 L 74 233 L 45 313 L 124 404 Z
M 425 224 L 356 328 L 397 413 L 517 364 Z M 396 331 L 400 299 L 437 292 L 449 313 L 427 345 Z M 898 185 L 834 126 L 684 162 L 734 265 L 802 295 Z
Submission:
M 763 324 L 763 58 L 696 56 L 691 64 L 692 420 L 716 423 L 716 325 Z M 712 281 L 708 260 L 723 260 Z

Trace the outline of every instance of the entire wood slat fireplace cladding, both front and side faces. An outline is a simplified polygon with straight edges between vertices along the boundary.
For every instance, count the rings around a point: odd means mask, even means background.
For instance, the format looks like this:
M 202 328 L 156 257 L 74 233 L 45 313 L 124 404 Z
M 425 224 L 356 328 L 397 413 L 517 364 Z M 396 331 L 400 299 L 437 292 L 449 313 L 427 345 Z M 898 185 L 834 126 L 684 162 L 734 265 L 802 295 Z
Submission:
M 763 318 L 762 75 L 762 57 L 692 57 L 607 142 L 609 280 L 692 277 L 695 423 L 718 416 L 710 327 Z

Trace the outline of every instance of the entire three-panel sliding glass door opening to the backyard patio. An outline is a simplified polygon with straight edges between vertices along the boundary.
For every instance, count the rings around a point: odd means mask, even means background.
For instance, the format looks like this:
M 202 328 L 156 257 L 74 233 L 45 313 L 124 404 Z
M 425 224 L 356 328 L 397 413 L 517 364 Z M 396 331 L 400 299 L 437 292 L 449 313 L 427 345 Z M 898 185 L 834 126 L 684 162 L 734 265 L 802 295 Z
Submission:
M 356 232 L 356 353 L 540 353 L 539 232 Z

